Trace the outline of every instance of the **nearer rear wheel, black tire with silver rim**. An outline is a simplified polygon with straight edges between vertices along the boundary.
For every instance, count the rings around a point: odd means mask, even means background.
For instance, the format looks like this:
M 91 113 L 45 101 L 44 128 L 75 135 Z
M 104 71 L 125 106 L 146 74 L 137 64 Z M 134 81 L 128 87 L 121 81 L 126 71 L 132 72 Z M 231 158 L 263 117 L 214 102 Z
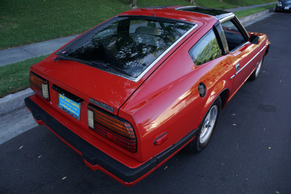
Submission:
M 185 150 L 189 153 L 199 153 L 202 151 L 209 143 L 210 138 L 215 129 L 216 123 L 221 110 L 221 97 L 217 97 L 212 103 L 209 111 L 203 118 L 199 128 L 197 130 L 198 134 L 194 137 L 194 140 L 185 146 Z

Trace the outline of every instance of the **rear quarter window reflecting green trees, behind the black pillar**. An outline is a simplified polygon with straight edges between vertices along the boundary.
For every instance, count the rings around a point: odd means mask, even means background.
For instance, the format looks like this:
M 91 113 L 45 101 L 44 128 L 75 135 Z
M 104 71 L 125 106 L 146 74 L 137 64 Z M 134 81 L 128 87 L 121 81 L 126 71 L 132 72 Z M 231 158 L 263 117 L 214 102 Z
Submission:
M 195 65 L 202 65 L 222 56 L 221 49 L 219 48 L 213 29 L 207 32 L 190 49 L 189 55 Z

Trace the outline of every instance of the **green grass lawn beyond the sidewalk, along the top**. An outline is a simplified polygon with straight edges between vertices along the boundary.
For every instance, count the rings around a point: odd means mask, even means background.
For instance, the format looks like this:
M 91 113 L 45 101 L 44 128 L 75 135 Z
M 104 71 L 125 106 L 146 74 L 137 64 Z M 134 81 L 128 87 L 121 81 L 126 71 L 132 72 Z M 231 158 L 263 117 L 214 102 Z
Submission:
M 274 0 L 195 0 L 218 9 Z M 1 0 L 0 49 L 32 44 L 85 32 L 130 9 L 129 0 Z M 188 0 L 137 0 L 138 7 L 193 5 Z

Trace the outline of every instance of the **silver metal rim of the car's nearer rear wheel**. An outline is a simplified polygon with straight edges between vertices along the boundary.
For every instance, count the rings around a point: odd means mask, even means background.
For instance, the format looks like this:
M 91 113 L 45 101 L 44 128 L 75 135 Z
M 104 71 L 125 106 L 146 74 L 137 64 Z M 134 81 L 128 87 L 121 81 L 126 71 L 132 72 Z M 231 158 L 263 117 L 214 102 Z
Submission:
M 202 129 L 201 129 L 201 133 L 200 133 L 200 137 L 199 137 L 199 141 L 201 144 L 203 144 L 204 142 L 206 142 L 206 140 L 208 140 L 208 138 L 210 137 L 211 131 L 214 128 L 214 124 L 215 124 L 215 120 L 217 117 L 217 106 L 214 105 L 209 113 L 206 116 L 206 119 L 203 123 Z

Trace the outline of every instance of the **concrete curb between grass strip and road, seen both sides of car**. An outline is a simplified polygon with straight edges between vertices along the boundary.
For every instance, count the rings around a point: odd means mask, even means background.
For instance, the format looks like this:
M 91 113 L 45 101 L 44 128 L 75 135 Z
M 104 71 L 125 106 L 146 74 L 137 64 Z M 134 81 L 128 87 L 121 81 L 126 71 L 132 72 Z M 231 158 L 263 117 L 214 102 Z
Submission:
M 242 17 L 240 18 L 240 21 L 244 25 L 246 23 L 250 23 L 250 20 L 254 20 L 257 17 L 264 16 L 268 14 L 269 12 L 273 12 L 274 10 L 275 8 L 272 8 L 270 10 L 262 11 L 251 16 Z M 28 88 L 16 94 L 8 95 L 7 97 L 0 98 L 0 116 L 7 113 L 12 113 L 18 109 L 23 108 L 25 106 L 24 98 L 29 97 L 33 94 L 34 92 L 32 91 L 32 89 Z

